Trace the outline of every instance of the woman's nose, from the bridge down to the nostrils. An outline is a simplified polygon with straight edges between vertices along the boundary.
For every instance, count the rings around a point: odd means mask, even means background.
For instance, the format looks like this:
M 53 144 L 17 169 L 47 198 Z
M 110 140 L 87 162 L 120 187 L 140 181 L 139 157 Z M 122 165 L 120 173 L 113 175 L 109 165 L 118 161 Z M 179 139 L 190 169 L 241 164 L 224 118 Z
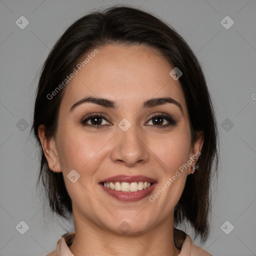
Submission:
M 135 128 L 135 125 L 122 131 L 117 127 L 115 142 L 111 151 L 111 160 L 128 167 L 148 161 L 149 152 L 143 134 Z

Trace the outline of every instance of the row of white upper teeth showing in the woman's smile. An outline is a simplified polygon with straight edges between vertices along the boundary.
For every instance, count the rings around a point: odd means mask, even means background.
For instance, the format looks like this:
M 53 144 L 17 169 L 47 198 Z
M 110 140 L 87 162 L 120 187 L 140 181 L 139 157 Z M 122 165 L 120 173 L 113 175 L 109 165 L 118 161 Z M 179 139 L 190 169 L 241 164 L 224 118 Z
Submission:
M 137 190 L 142 190 L 150 186 L 150 182 L 103 182 L 103 185 L 107 188 L 115 189 L 124 192 L 135 192 Z

